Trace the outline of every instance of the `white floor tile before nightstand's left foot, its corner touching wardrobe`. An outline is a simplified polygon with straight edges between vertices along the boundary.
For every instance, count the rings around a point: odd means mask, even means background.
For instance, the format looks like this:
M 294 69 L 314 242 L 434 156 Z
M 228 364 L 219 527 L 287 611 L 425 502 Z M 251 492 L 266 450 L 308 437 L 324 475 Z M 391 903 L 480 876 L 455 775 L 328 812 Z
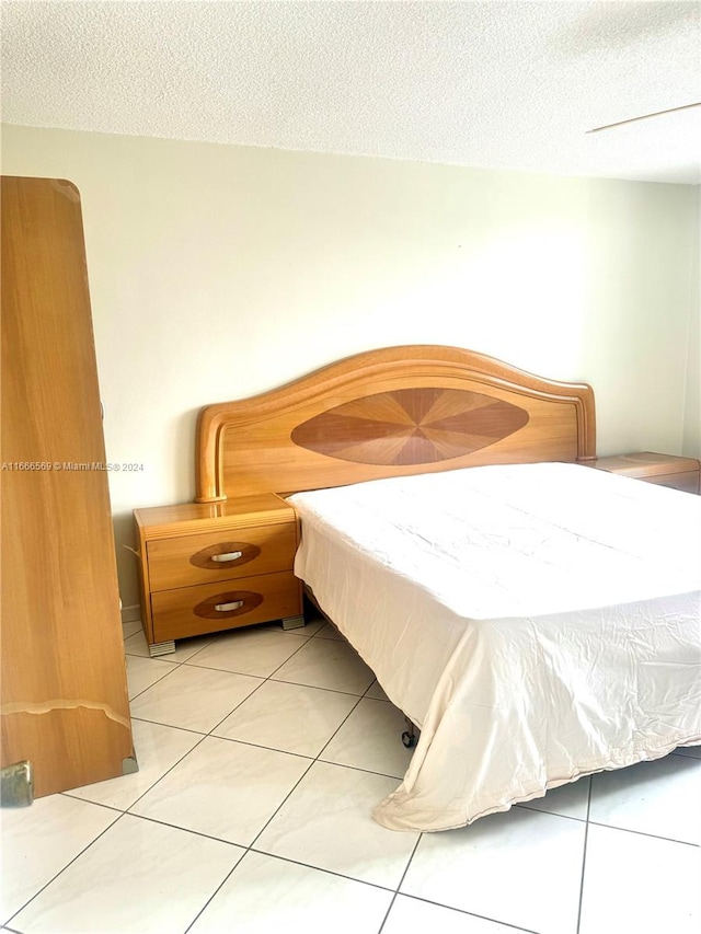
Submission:
M 262 683 L 248 674 L 160 664 L 170 674 L 133 701 L 133 716 L 199 733 L 214 729 Z

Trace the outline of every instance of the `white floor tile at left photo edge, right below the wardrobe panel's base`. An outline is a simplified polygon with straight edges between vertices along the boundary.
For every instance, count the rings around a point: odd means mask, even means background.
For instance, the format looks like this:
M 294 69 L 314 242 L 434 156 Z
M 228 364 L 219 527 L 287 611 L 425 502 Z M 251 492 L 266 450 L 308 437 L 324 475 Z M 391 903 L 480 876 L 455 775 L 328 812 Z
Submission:
M 26 808 L 3 808 L 0 924 L 118 817 L 114 810 L 66 795 L 37 798 Z

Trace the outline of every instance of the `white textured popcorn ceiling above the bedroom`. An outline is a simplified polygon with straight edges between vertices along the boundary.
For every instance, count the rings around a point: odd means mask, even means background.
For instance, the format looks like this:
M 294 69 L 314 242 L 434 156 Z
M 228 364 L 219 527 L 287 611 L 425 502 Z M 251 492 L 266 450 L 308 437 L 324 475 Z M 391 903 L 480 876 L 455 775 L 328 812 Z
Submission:
M 2 2 L 3 120 L 701 181 L 701 2 Z

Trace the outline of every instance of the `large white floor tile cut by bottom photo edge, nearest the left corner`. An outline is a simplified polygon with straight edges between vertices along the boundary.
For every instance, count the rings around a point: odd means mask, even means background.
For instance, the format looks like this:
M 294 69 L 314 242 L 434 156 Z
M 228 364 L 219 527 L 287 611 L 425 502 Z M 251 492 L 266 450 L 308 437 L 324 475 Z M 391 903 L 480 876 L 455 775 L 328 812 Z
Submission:
M 125 815 L 13 925 L 22 934 L 181 934 L 243 852 Z

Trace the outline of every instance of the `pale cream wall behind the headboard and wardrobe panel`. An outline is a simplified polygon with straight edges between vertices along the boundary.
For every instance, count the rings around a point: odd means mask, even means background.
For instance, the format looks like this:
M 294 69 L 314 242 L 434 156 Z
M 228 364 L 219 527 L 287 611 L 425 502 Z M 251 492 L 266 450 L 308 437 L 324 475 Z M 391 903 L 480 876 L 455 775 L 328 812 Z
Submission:
M 600 453 L 699 442 L 691 187 L 23 127 L 2 171 L 82 194 L 107 457 L 143 464 L 110 477 L 126 604 L 131 509 L 193 497 L 198 407 L 359 350 L 586 380 Z

